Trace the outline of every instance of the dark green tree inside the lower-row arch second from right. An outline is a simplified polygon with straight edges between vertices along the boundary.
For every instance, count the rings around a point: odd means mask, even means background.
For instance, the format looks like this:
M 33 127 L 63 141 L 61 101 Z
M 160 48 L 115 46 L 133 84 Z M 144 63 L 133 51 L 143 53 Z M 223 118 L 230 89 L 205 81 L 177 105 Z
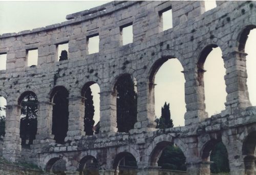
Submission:
M 229 172 L 229 163 L 227 149 L 222 142 L 216 144 L 210 154 L 210 161 L 214 162 L 210 165 L 212 173 Z

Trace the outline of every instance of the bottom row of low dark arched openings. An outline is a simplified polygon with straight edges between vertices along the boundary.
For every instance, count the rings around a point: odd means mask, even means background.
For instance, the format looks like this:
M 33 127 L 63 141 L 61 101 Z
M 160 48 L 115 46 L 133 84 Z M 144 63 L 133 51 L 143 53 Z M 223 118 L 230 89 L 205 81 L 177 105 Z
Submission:
M 245 174 L 254 174 L 256 172 L 255 169 L 255 144 L 256 141 L 254 139 L 256 132 L 253 131 L 248 134 L 248 136 L 244 139 L 242 146 L 242 154 L 243 154 L 243 163 Z M 148 148 L 150 148 L 149 146 Z M 181 149 L 182 148 L 182 149 Z M 149 151 L 147 149 L 145 151 Z M 166 158 L 166 151 L 172 151 L 172 156 Z M 180 170 L 186 171 L 187 163 L 186 160 L 186 150 L 184 147 L 179 147 L 177 143 L 172 141 L 160 141 L 156 143 L 155 147 L 148 152 L 148 166 L 150 167 L 159 167 L 160 171 L 167 172 L 168 170 Z M 211 164 L 209 168 L 209 173 L 228 173 L 229 170 L 229 161 L 228 151 L 226 149 L 226 145 L 223 144 L 221 137 L 217 137 L 217 139 L 211 139 L 206 142 L 202 150 L 200 151 L 201 160 L 203 162 L 209 162 Z M 99 170 L 104 167 L 104 163 L 102 164 L 99 160 L 104 160 L 97 154 L 97 157 L 88 155 L 84 156 L 79 163 L 77 164 L 77 171 L 80 174 L 99 174 Z M 140 161 L 139 155 L 135 152 L 123 151 L 117 154 L 115 157 L 109 157 L 108 160 L 112 163 L 111 169 L 114 170 L 115 175 L 120 174 L 137 174 L 138 164 Z M 51 158 L 46 164 L 45 170 L 47 172 L 53 173 L 64 173 L 66 168 L 66 163 L 69 161 L 64 157 L 54 157 Z M 104 162 L 104 161 L 103 161 Z M 103 168 L 104 169 L 104 168 Z M 161 170 L 163 169 L 163 170 Z M 61 174 L 61 173 L 60 173 Z

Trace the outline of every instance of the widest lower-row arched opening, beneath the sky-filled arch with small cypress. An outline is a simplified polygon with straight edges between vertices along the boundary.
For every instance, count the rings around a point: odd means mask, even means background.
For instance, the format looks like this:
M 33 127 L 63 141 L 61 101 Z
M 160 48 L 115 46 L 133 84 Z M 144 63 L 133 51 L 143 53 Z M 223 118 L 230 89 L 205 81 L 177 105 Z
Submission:
M 186 171 L 186 158 L 182 150 L 172 142 L 159 142 L 151 154 L 151 166 L 161 167 L 160 171 Z

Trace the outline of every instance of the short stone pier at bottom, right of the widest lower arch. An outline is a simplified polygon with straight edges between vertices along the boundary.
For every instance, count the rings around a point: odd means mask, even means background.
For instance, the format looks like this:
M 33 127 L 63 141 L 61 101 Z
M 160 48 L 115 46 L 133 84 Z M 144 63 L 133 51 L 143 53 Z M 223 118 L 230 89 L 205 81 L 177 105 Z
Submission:
M 210 162 L 187 162 L 187 174 L 189 175 L 209 175 Z

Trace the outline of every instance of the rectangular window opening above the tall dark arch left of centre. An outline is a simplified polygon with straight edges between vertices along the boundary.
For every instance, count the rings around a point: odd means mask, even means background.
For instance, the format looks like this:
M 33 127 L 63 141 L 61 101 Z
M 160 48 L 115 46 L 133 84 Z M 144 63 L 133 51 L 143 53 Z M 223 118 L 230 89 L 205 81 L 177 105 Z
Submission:
M 133 42 L 133 23 L 120 27 L 120 45 L 124 46 Z

